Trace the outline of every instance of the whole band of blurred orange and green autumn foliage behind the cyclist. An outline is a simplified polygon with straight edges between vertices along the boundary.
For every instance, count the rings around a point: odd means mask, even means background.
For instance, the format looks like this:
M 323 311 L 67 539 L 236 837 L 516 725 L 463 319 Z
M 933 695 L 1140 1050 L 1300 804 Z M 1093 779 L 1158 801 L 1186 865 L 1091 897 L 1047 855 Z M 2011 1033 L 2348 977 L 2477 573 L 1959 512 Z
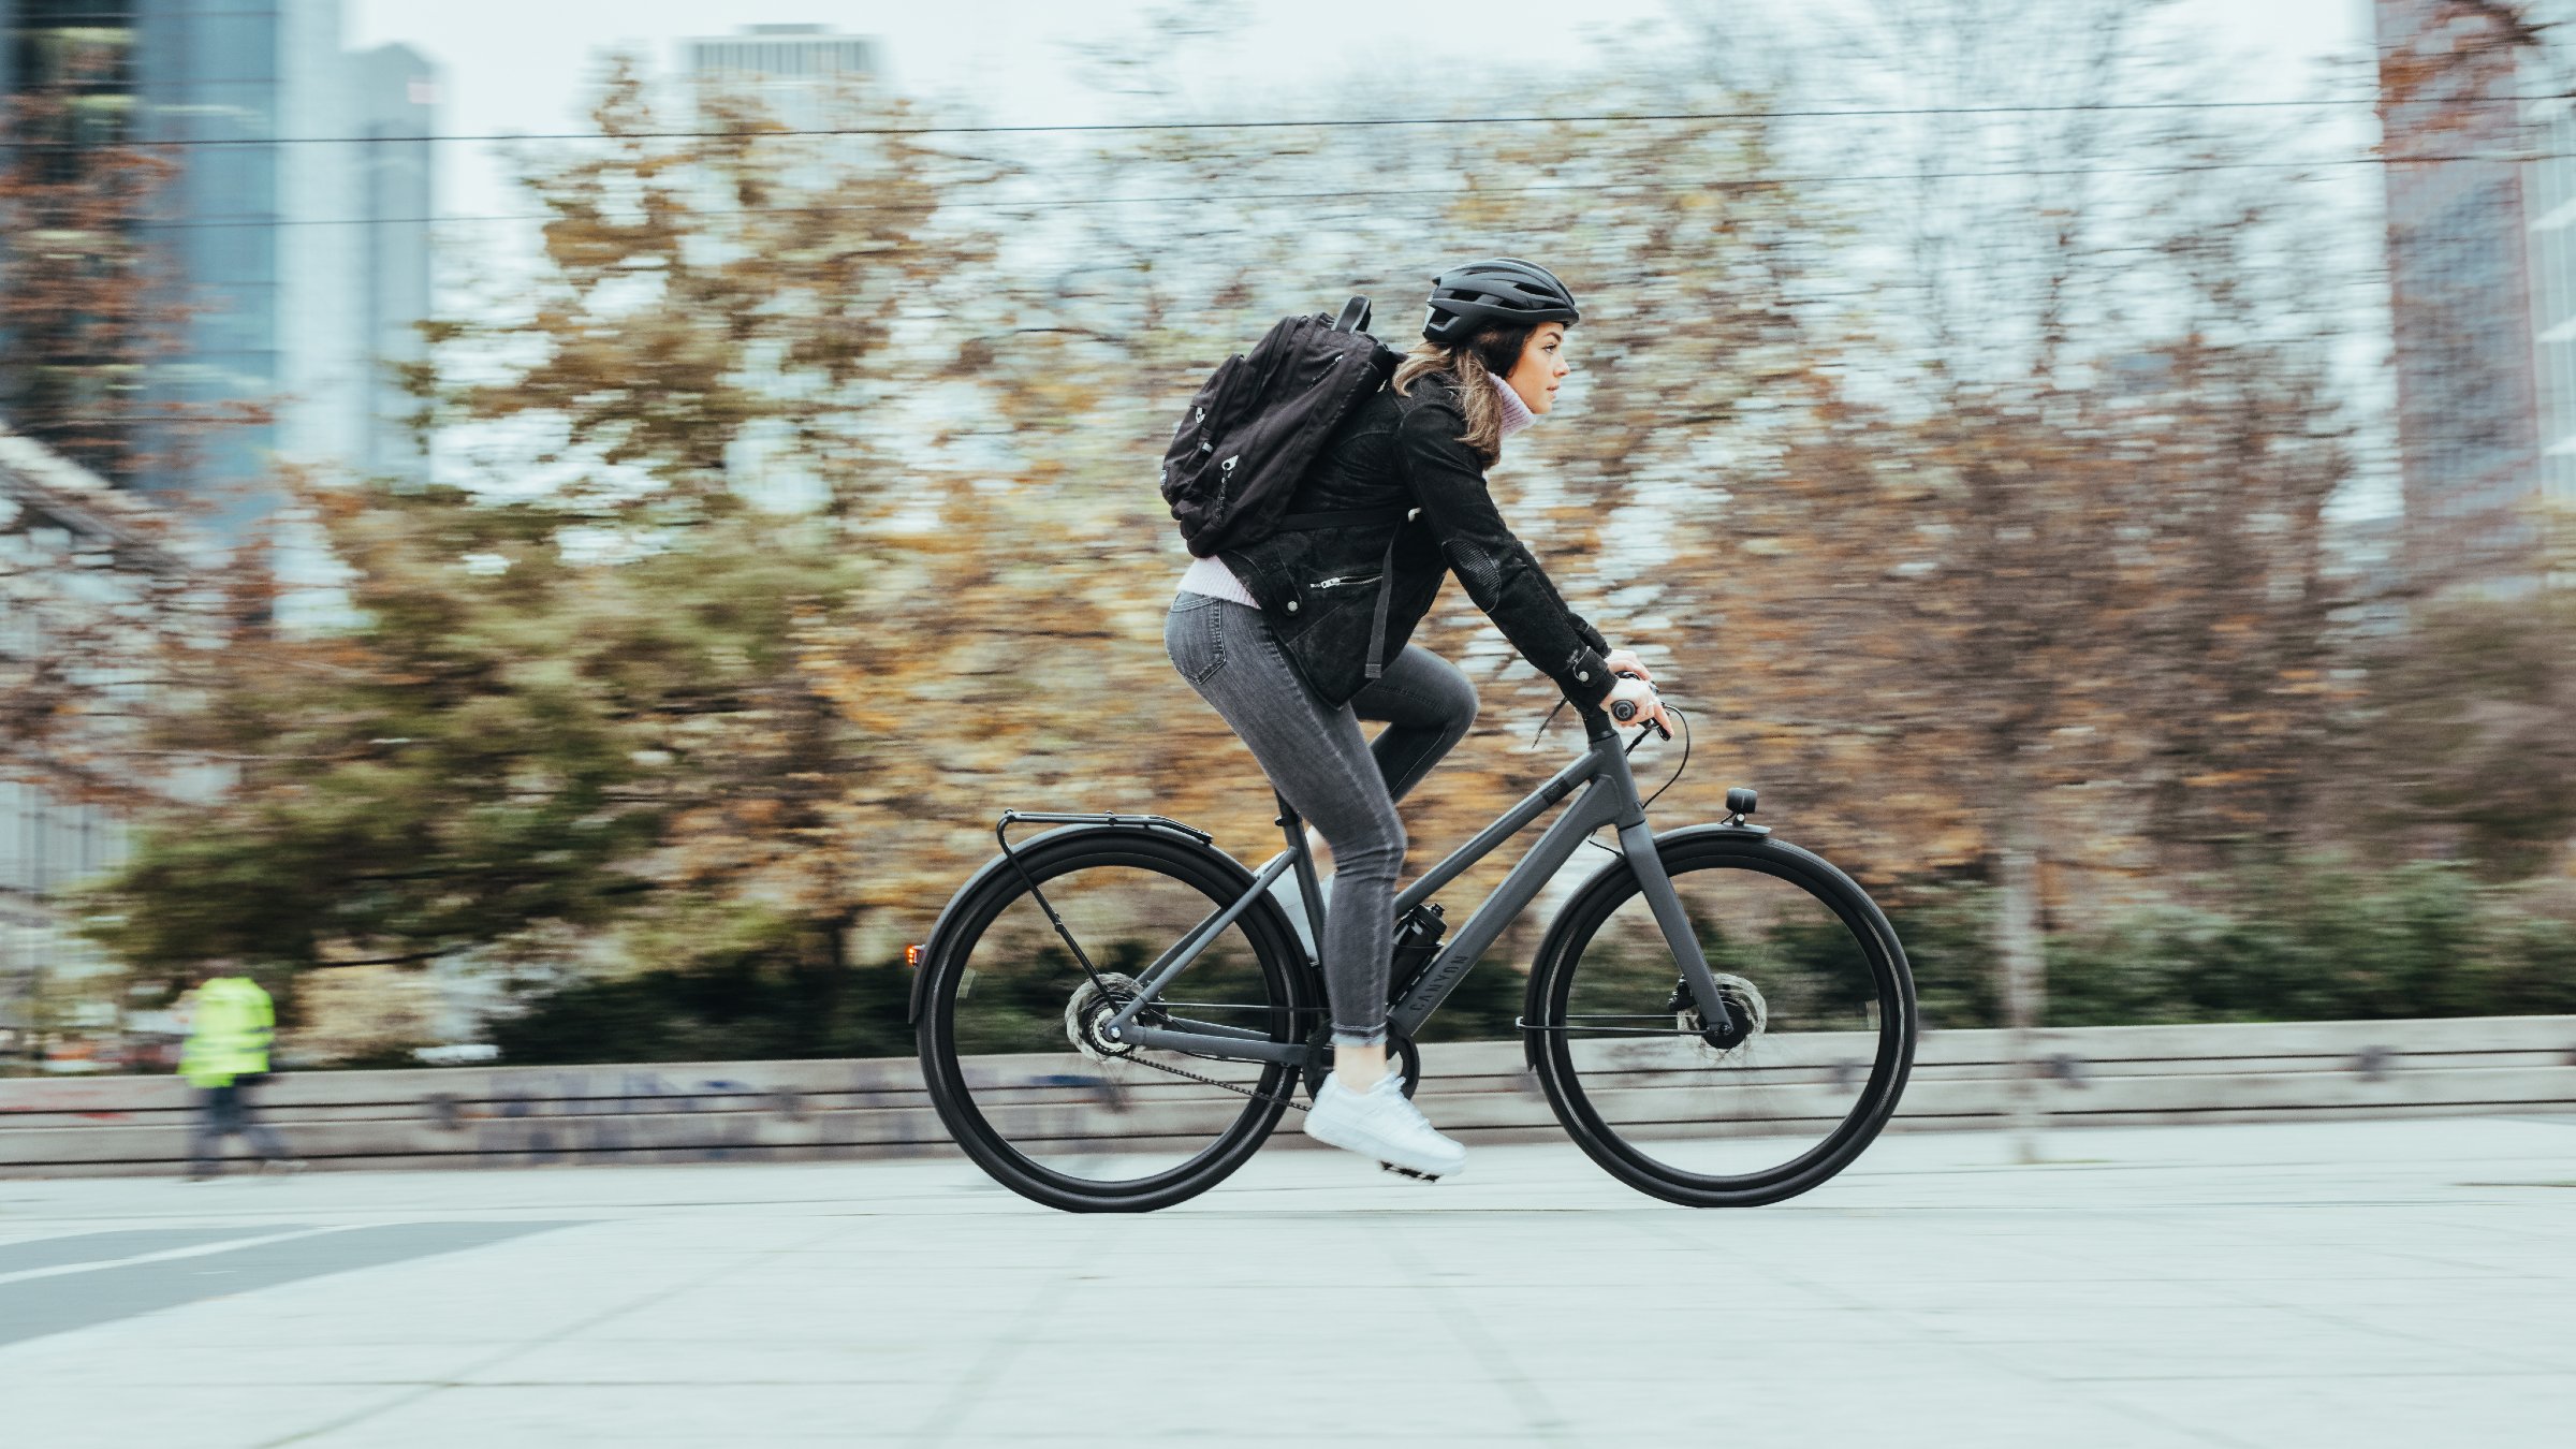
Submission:
M 2349 418 L 2324 327 L 2277 325 L 2295 258 L 2254 201 L 2056 224 L 2043 260 L 2117 253 L 2161 304 L 1978 374 L 1844 286 L 1850 206 L 1790 178 L 1759 95 L 1692 75 L 1530 113 L 1705 119 L 1025 150 L 850 106 L 866 134 L 786 137 L 621 70 L 600 139 L 528 168 L 533 281 L 412 376 L 440 482 L 299 480 L 348 570 L 325 621 L 242 606 L 167 652 L 152 748 L 229 786 L 98 895 L 129 962 L 778 972 L 827 1003 L 1002 807 L 1265 859 L 1267 786 L 1162 657 L 1159 443 L 1278 315 L 1373 294 L 1401 338 L 1476 253 L 1587 299 L 1579 384 L 1494 490 L 1690 712 L 1659 822 L 1754 784 L 1899 908 L 1994 882 L 2063 931 L 2349 838 Z M 1574 743 L 1533 750 L 1553 691 L 1455 588 L 1417 642 L 1484 714 L 1406 804 L 1414 869 Z M 2571 807 L 2530 812 L 2522 866 Z

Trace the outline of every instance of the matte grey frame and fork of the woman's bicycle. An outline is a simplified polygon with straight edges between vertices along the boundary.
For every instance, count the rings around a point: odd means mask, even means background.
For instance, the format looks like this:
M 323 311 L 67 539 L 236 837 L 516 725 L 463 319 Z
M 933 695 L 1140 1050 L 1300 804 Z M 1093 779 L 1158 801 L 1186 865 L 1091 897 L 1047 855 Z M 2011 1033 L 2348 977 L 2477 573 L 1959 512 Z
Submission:
M 1584 838 L 1602 825 L 1618 828 L 1620 856 L 1625 856 L 1628 869 L 1636 871 L 1638 890 L 1646 895 L 1646 908 L 1654 913 L 1654 923 L 1664 931 L 1664 944 L 1672 949 L 1674 964 L 1682 969 L 1682 980 L 1690 985 L 1690 998 L 1700 1006 L 1700 1018 L 1713 1031 L 1726 1031 L 1731 1016 L 1726 1011 L 1726 998 L 1718 993 L 1716 977 L 1708 972 L 1708 959 L 1700 954 L 1700 936 L 1690 928 L 1690 918 L 1682 913 L 1682 897 L 1672 890 L 1672 877 L 1664 874 L 1664 859 L 1654 848 L 1654 830 L 1646 828 L 1646 807 L 1636 797 L 1636 776 L 1628 773 L 1628 748 L 1620 743 L 1618 730 L 1607 724 L 1607 717 L 1592 717 L 1587 712 L 1584 732 L 1589 748 L 1571 766 L 1556 771 L 1556 779 L 1538 786 L 1520 804 L 1502 812 L 1499 820 L 1476 833 L 1473 841 L 1450 851 L 1445 861 L 1422 874 L 1414 884 L 1396 892 L 1396 920 L 1404 913 L 1425 902 L 1458 879 L 1461 871 L 1476 861 L 1494 853 L 1497 846 L 1520 835 L 1533 820 L 1556 807 L 1564 797 L 1574 794 L 1577 786 L 1589 786 L 1584 794 L 1556 817 L 1553 825 L 1530 846 L 1530 853 L 1520 859 L 1517 866 L 1494 895 L 1484 897 L 1484 905 L 1458 928 L 1440 954 L 1432 957 L 1422 980 L 1394 1003 L 1386 1013 L 1386 1024 L 1412 1036 L 1422 1024 L 1440 1008 L 1443 1000 L 1458 987 L 1468 967 L 1484 957 L 1484 949 L 1502 936 L 1502 928 L 1512 923 L 1538 892 L 1546 890 L 1548 879 L 1582 848 Z M 1139 977 L 1141 993 L 1118 1016 L 1103 1026 L 1103 1036 L 1113 1042 L 1126 1042 L 1133 1047 L 1159 1047 L 1167 1052 L 1198 1052 L 1206 1057 L 1231 1057 L 1242 1062 L 1306 1062 L 1303 1042 L 1270 1042 L 1267 1034 L 1244 1026 L 1224 1026 L 1213 1021 L 1185 1021 L 1167 1018 L 1170 1026 L 1141 1026 L 1141 1016 L 1162 995 L 1182 969 L 1190 967 L 1226 931 L 1234 920 L 1249 910 L 1283 871 L 1296 869 L 1298 895 L 1306 900 L 1306 920 L 1314 920 L 1314 938 L 1324 938 L 1324 900 L 1314 879 L 1314 856 L 1306 851 L 1303 820 L 1280 804 L 1280 830 L 1288 835 L 1288 851 L 1262 866 L 1252 877 L 1252 890 L 1211 913 L 1198 926 L 1193 926 L 1180 941 L 1172 944 L 1151 967 Z

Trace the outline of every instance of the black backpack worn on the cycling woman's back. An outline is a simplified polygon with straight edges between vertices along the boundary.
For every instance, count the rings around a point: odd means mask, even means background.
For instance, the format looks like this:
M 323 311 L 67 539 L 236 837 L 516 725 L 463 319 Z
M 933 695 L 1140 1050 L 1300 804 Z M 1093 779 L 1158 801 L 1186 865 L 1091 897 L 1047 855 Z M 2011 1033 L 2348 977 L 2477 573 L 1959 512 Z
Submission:
M 1365 327 L 1365 297 L 1342 304 L 1340 317 L 1285 317 L 1198 389 L 1162 454 L 1162 500 L 1193 554 L 1257 544 L 1280 529 L 1381 521 L 1381 511 L 1288 513 L 1324 441 L 1386 387 L 1399 361 Z

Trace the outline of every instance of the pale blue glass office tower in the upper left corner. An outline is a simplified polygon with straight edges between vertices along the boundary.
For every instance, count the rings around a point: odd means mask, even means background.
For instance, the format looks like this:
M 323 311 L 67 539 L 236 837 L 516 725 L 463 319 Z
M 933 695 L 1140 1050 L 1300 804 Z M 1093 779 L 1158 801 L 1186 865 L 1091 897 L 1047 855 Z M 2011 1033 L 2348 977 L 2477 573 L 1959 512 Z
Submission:
M 417 472 L 386 364 L 430 307 L 435 70 L 404 46 L 348 54 L 343 0 L 0 0 L 0 85 L 80 62 L 93 139 L 167 147 L 178 178 L 137 227 L 201 307 L 155 394 L 265 405 L 167 490 L 258 485 L 273 456 Z M 100 59 L 106 64 L 100 67 Z

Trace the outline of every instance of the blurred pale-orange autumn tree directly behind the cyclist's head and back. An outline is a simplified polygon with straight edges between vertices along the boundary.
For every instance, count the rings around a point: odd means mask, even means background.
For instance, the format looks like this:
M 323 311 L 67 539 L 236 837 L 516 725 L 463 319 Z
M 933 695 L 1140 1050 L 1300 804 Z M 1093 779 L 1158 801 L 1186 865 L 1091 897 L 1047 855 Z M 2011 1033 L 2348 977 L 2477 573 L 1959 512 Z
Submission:
M 1149 64 L 1188 62 L 1182 36 L 1121 67 L 1121 85 L 1172 95 Z M 1350 108 L 1435 113 L 1440 98 L 1368 93 Z M 1507 108 L 1744 113 L 1749 101 L 1646 70 L 1556 80 Z M 1430 276 L 1463 255 L 1538 255 L 1574 278 L 1587 307 L 1579 392 L 1564 418 L 1515 438 L 1497 472 L 1504 516 L 1615 642 L 1659 665 L 1716 668 L 1700 652 L 1713 629 L 1695 614 L 1718 580 L 1698 572 L 1700 559 L 1667 570 L 1662 541 L 1669 518 L 1723 498 L 1710 480 L 1721 438 L 1793 425 L 1770 423 L 1759 394 L 1765 374 L 1801 366 L 1777 299 L 1793 258 L 1772 255 L 1801 232 L 1798 206 L 1770 183 L 1723 180 L 1762 170 L 1759 144 L 1762 126 L 1741 119 L 1574 121 L 1260 129 L 1218 144 L 1203 131 L 1139 131 L 1033 160 L 1028 175 L 1046 175 L 1051 196 L 1100 204 L 1030 199 L 1020 214 L 1010 196 L 992 199 L 1041 271 L 1005 266 L 979 309 L 958 317 L 971 335 L 953 374 L 987 402 L 935 433 L 945 456 L 920 474 L 945 487 L 943 526 L 925 521 L 904 539 L 912 557 L 868 585 L 873 608 L 951 647 L 884 639 L 868 676 L 891 691 L 850 701 L 871 730 L 899 730 L 925 709 L 971 730 L 909 781 L 884 781 L 907 792 L 907 820 L 889 830 L 920 851 L 871 890 L 927 923 L 992 851 L 999 804 L 1151 807 L 1216 830 L 1247 859 L 1275 848 L 1257 766 L 1162 657 L 1162 611 L 1188 554 L 1151 459 L 1206 371 L 1275 317 L 1332 312 L 1360 291 L 1378 299 L 1376 333 L 1404 348 Z M 1139 201 L 1110 204 L 1128 196 Z M 1747 397 L 1757 402 L 1739 415 Z M 1762 420 L 1747 423 L 1754 413 Z M 1553 688 L 1461 593 L 1443 596 L 1417 637 L 1468 668 L 1486 701 L 1476 735 L 1406 802 L 1419 866 L 1558 758 L 1530 755 Z M 1708 812 L 1721 792 L 1723 781 L 1692 779 L 1667 817 Z M 1504 864 L 1468 877 L 1461 895 Z M 1525 959 L 1522 946 L 1497 954 Z

